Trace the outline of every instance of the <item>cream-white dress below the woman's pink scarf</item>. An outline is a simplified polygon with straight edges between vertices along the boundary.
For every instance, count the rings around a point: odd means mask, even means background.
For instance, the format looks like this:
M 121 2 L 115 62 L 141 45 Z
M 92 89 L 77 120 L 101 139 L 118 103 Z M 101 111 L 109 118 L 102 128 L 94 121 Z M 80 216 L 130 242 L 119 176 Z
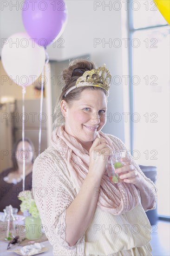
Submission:
M 152 255 L 150 232 L 150 222 L 141 203 L 119 216 L 97 207 L 85 232 L 85 255 Z

